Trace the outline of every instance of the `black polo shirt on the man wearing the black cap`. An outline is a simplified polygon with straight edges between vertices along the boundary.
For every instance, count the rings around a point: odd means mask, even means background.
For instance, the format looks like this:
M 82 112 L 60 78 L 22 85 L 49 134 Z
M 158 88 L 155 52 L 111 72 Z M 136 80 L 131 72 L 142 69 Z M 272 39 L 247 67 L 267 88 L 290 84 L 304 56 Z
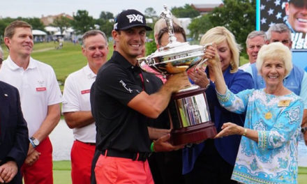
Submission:
M 147 123 L 152 119 L 127 104 L 143 89 L 149 94 L 155 93 L 162 84 L 158 77 L 142 72 L 114 51 L 110 61 L 98 71 L 91 91 L 91 111 L 99 136 L 96 141 L 98 150 L 150 152 Z

